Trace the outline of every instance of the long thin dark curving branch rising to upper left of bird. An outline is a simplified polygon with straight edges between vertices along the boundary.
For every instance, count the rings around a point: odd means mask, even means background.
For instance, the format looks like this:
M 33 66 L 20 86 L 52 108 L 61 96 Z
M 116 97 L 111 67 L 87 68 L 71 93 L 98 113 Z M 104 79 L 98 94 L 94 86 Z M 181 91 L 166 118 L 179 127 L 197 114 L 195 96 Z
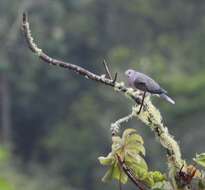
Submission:
M 22 20 L 22 32 L 24 34 L 24 37 L 26 39 L 26 42 L 28 44 L 29 49 L 35 53 L 41 60 L 43 60 L 47 64 L 56 65 L 65 69 L 72 70 L 76 72 L 79 75 L 84 76 L 87 79 L 94 80 L 96 82 L 100 82 L 104 85 L 111 86 L 115 88 L 117 91 L 125 93 L 127 96 L 129 96 L 131 99 L 135 101 L 137 104 L 141 104 L 141 98 L 132 94 L 128 93 L 129 88 L 125 87 L 124 85 L 117 85 L 116 79 L 117 79 L 117 73 L 115 74 L 114 80 L 112 78 L 106 78 L 104 76 L 97 75 L 95 73 L 90 72 L 87 69 L 84 69 L 83 67 L 64 62 L 61 60 L 54 59 L 50 56 L 48 56 L 46 53 L 44 53 L 34 42 L 33 37 L 31 35 L 29 22 L 26 13 L 23 13 L 23 20 Z M 107 70 L 109 72 L 109 69 Z M 109 74 L 109 77 L 111 74 Z

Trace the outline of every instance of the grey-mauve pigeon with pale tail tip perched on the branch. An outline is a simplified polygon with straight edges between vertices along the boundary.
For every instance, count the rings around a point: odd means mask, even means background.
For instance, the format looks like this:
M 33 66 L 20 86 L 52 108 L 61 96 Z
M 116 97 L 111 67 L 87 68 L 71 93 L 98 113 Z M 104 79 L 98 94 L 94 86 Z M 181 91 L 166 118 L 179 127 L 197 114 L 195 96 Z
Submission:
M 163 89 L 154 79 L 150 78 L 146 74 L 135 71 L 133 69 L 128 69 L 125 72 L 125 75 L 128 78 L 128 84 L 130 87 L 144 92 L 138 114 L 141 112 L 144 98 L 147 92 L 157 95 L 171 104 L 175 104 L 175 101 L 167 95 L 167 91 Z

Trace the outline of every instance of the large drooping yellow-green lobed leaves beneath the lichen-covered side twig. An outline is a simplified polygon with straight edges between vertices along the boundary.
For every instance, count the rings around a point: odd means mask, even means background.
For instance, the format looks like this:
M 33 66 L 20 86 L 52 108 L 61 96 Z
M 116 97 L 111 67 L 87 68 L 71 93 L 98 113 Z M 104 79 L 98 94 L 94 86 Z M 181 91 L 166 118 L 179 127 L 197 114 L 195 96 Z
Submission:
M 108 165 L 109 170 L 103 177 L 103 181 L 117 179 L 123 184 L 127 183 L 128 176 L 123 170 L 118 157 L 123 160 L 127 168 L 130 168 L 135 177 L 144 182 L 149 187 L 163 183 L 166 179 L 159 171 L 148 171 L 145 156 L 144 141 L 135 129 L 126 129 L 122 138 L 119 136 L 112 137 L 112 152 L 106 157 L 99 157 L 102 165 Z

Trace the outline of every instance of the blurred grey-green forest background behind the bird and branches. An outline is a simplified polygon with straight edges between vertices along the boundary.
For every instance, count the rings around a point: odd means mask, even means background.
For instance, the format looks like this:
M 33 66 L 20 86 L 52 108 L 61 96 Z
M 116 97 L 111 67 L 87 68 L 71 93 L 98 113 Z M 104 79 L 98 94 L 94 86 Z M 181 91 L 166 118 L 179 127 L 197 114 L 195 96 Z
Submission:
M 153 97 L 183 157 L 205 142 L 204 0 L 0 0 L 0 190 L 103 190 L 97 157 L 110 151 L 110 123 L 132 102 L 76 74 L 43 64 L 27 48 L 21 14 L 39 46 L 125 80 L 133 68 L 160 81 L 176 105 Z M 166 171 L 165 151 L 134 120 L 150 169 Z M 124 189 L 135 189 L 126 185 Z

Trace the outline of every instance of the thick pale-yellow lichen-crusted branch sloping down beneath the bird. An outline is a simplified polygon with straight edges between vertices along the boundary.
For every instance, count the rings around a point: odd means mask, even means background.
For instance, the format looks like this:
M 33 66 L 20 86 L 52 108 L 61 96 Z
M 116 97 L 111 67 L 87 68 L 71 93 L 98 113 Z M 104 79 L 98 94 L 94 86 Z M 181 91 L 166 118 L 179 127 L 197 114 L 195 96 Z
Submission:
M 168 128 L 164 125 L 159 110 L 152 104 L 150 96 L 145 98 L 144 106 L 140 114 L 138 114 L 139 107 L 140 105 L 133 106 L 130 115 L 111 124 L 111 130 L 118 132 L 122 123 L 137 117 L 140 121 L 150 127 L 161 145 L 167 150 L 169 166 L 174 170 L 178 170 L 184 164 L 184 161 L 181 158 L 179 145 L 174 140 L 174 137 L 169 134 Z

